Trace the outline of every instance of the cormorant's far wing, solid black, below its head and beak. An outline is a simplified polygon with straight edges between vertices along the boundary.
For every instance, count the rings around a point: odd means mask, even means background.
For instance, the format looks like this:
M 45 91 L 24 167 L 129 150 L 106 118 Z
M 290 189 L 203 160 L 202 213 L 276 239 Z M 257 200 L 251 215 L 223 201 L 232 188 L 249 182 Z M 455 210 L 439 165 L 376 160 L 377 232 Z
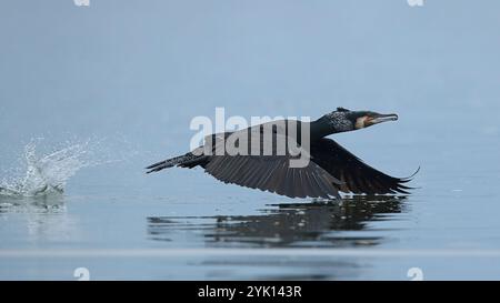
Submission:
M 409 193 L 404 183 L 411 179 L 393 178 L 366 164 L 331 139 L 311 143 L 311 160 L 336 179 L 340 191 L 367 194 Z

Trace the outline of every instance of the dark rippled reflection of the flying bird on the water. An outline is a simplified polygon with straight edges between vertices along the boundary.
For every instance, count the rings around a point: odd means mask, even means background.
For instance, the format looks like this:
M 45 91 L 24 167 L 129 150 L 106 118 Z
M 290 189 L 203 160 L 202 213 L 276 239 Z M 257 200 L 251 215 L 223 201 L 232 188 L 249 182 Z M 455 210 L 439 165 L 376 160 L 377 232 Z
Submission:
M 356 196 L 341 201 L 277 204 L 257 215 L 148 218 L 153 240 L 169 241 L 179 231 L 201 232 L 213 246 L 352 246 L 373 245 L 381 239 L 344 236 L 340 231 L 362 231 L 370 221 L 389 220 L 400 213 L 404 198 Z

